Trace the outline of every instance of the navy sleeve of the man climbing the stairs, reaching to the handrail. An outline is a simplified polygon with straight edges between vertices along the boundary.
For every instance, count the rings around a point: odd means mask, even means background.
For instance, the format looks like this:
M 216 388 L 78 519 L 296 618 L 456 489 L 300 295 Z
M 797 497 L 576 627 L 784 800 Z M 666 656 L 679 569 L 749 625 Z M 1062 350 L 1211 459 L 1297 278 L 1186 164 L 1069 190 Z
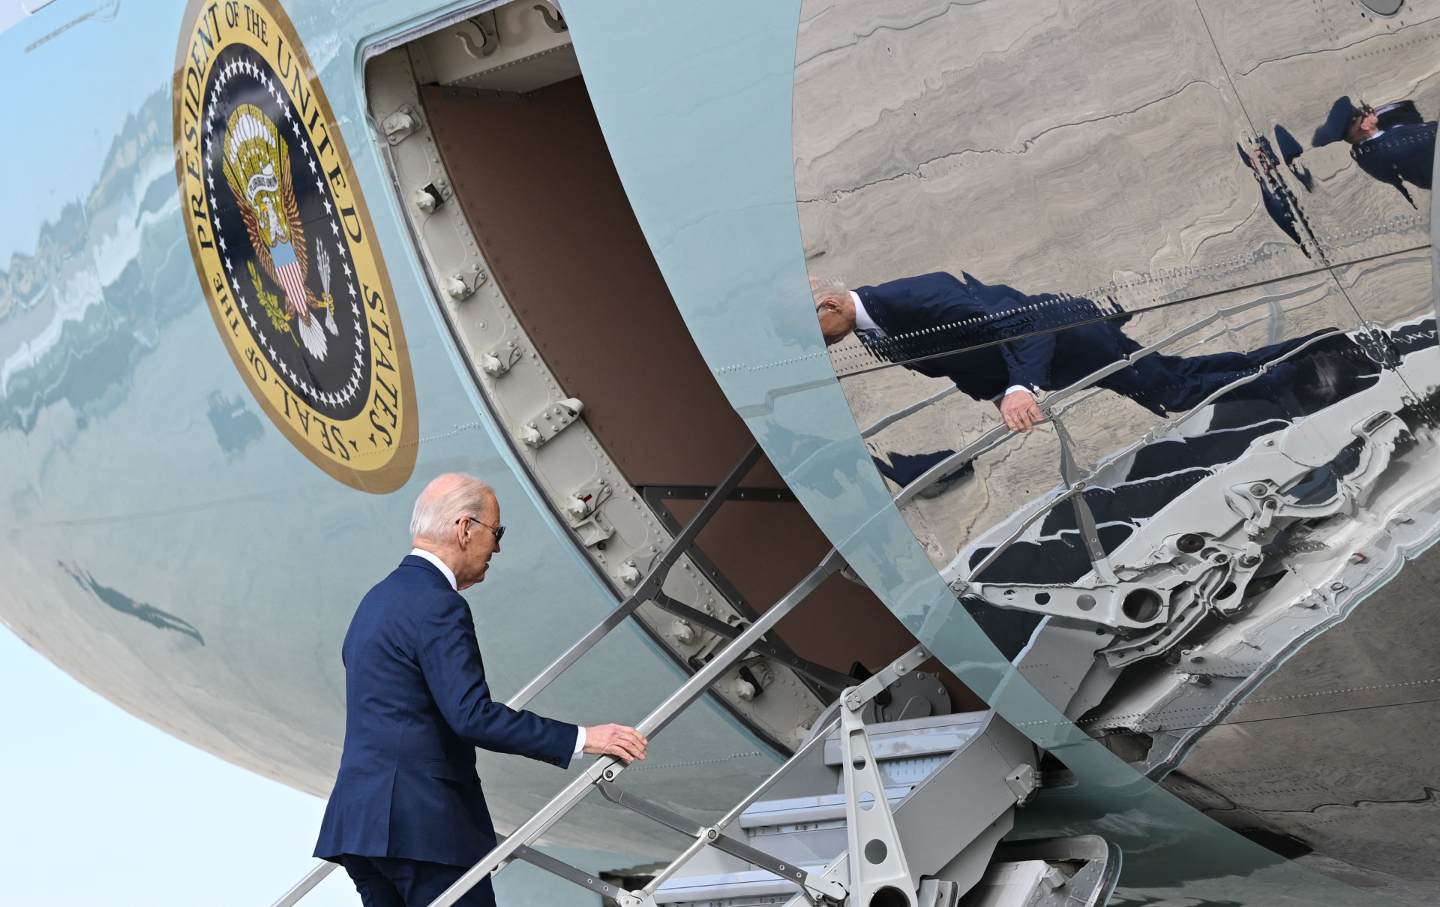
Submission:
M 420 671 L 451 730 L 484 750 L 528 756 L 562 769 L 570 764 L 575 724 L 516 711 L 490 697 L 465 599 L 451 595 L 426 602 L 416 608 L 416 621 Z

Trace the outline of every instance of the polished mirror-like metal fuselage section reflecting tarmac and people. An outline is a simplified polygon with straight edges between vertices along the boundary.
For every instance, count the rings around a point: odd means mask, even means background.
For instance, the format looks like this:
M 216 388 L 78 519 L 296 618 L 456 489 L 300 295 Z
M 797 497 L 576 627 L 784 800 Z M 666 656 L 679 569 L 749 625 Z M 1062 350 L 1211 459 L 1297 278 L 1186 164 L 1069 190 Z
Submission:
M 1385 583 L 1440 537 L 1437 39 L 1424 0 L 815 0 L 793 107 L 808 271 L 860 286 L 881 331 L 831 361 L 955 593 L 1034 631 L 1020 672 L 1093 736 L 1139 734 L 1139 769 L 1211 803 L 1223 766 L 1211 815 L 1417 904 L 1440 893 L 1407 868 L 1440 852 L 1428 760 L 1354 733 L 1381 714 L 1328 746 L 1354 659 L 1312 652 L 1398 632 L 1375 615 L 1420 606 L 1421 567 Z M 901 318 L 919 284 L 886 282 L 932 272 L 965 305 Z M 1032 430 L 998 410 L 1017 360 L 1048 382 Z M 1375 766 L 1395 790 L 1375 802 L 1403 803 L 1364 835 L 1251 812 L 1267 798 L 1238 779 L 1282 721 L 1237 716 L 1280 677 L 1315 697 L 1286 746 Z M 1361 809 L 1274 746 L 1266 785 Z

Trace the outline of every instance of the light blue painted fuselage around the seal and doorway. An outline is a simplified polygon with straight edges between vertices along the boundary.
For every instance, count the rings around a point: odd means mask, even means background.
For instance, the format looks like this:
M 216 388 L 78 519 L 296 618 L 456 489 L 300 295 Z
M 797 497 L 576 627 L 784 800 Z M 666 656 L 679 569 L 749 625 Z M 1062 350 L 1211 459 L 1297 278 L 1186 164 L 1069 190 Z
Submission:
M 337 482 L 266 419 L 207 311 L 176 186 L 171 79 L 186 6 L 59 0 L 0 33 L 12 124 L 0 167 L 0 619 L 157 727 L 323 795 L 343 734 L 340 639 L 354 603 L 408 550 L 429 478 L 472 472 L 501 501 L 504 550 L 468 593 L 495 690 L 517 690 L 616 597 L 477 392 L 366 112 L 367 53 L 475 4 L 284 4 L 348 145 L 409 347 L 418 458 L 382 495 Z M 1008 672 L 891 505 L 808 305 L 791 132 L 801 4 L 563 6 L 626 193 L 732 406 L 890 610 L 1074 772 L 1073 788 L 1037 806 L 1035 828 L 1099 831 L 1125 849 L 1133 884 L 1182 898 L 1233 894 L 1215 880 L 1251 875 L 1261 891 L 1352 903 L 1138 775 Z M 534 708 L 636 721 L 681 677 L 645 633 L 622 628 Z M 657 740 L 636 786 L 723 811 L 779 757 L 706 703 Z M 491 756 L 481 773 L 501 826 L 563 780 Z M 632 831 L 600 841 L 613 831 L 605 816 L 573 828 L 560 836 L 655 849 Z

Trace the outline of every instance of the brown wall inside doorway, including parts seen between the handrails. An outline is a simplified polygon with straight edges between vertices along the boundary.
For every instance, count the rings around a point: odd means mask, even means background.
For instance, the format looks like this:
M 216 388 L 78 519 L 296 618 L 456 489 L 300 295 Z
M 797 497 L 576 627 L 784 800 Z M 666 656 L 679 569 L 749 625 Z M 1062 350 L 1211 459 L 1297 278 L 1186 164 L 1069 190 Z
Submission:
M 422 86 L 420 99 L 491 276 L 629 482 L 717 484 L 753 438 L 665 288 L 583 82 L 523 98 Z M 762 461 L 746 484 L 782 482 Z M 700 547 L 763 609 L 829 543 L 799 504 L 727 504 Z M 802 656 L 841 671 L 857 659 L 878 668 L 912 645 L 867 589 L 841 577 L 780 632 Z

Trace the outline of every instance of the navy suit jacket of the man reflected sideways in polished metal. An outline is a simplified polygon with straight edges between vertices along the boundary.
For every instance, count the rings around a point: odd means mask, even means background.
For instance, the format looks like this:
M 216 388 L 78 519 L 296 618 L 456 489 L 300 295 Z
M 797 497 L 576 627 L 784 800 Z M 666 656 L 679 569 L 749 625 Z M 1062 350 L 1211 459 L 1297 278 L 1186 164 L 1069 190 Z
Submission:
M 1106 314 L 1090 299 L 1028 295 L 969 274 L 963 281 L 945 272 L 900 278 L 858 286 L 855 295 L 886 333 L 868 344 L 876 354 L 948 377 L 976 400 L 994 400 L 1012 384 L 1063 387 L 1133 348 L 1113 322 L 1057 333 Z M 1057 343 L 1066 347 L 1058 357 Z

